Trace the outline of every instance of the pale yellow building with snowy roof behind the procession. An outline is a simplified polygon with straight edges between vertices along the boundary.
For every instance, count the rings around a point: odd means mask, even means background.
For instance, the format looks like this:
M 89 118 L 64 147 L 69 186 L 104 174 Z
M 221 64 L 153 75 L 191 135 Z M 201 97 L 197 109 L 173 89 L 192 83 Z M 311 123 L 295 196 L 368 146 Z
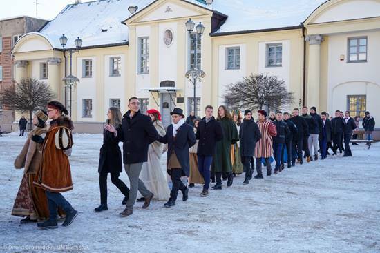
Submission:
M 71 116 L 79 132 L 101 132 L 108 108 L 126 112 L 133 96 L 140 98 L 143 112 L 160 110 L 164 125 L 169 125 L 174 106 L 189 114 L 194 89 L 185 73 L 193 68 L 205 72 L 196 83 L 199 116 L 205 105 L 225 103 L 229 83 L 263 72 L 285 81 L 294 92 L 289 110 L 307 105 L 330 114 L 350 110 L 353 116 L 369 110 L 380 119 L 380 1 L 321 1 L 298 21 L 278 21 L 273 27 L 239 23 L 244 17 L 226 3 L 140 1 L 137 11 L 128 0 L 69 5 L 46 28 L 21 37 L 13 49 L 16 78 L 47 81 L 61 101 L 71 94 Z M 68 19 L 73 17 L 82 17 L 77 29 L 70 29 Z M 190 18 L 205 26 L 198 42 L 184 26 Z M 61 34 L 71 41 L 66 48 L 73 48 L 77 36 L 84 41 L 73 54 L 79 83 L 72 92 L 65 92 L 61 81 L 69 68 L 68 54 L 59 45 Z

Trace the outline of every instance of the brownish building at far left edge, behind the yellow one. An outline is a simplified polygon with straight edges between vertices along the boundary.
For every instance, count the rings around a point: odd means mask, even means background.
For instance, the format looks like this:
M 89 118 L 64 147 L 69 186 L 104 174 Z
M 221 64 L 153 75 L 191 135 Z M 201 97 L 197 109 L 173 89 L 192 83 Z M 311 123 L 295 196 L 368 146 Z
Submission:
M 46 24 L 44 19 L 14 17 L 0 20 L 0 90 L 15 83 L 15 63 L 12 48 L 23 34 L 36 32 Z M 2 131 L 12 131 L 15 112 L 0 104 L 0 126 Z

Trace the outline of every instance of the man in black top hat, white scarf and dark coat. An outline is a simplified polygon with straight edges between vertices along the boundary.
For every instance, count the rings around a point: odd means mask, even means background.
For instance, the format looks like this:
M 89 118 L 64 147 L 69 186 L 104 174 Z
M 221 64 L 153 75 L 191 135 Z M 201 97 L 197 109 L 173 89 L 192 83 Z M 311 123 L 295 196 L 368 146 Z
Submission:
M 171 208 L 177 200 L 178 190 L 182 192 L 182 201 L 189 198 L 189 188 L 181 181 L 181 176 L 189 176 L 189 148 L 196 144 L 196 135 L 193 127 L 184 121 L 182 109 L 174 108 L 171 114 L 173 124 L 167 128 L 167 134 L 160 136 L 160 143 L 168 144 L 167 170 L 173 181 L 170 198 L 164 204 L 166 208 Z

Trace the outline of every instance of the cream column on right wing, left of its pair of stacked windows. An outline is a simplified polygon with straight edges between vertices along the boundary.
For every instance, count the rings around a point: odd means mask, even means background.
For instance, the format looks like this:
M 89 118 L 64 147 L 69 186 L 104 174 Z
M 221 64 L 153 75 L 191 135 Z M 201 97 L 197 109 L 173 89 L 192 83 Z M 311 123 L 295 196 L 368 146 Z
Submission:
M 307 59 L 307 94 L 306 105 L 316 106 L 319 110 L 319 90 L 321 78 L 321 41 L 322 35 L 308 35 L 305 41 L 309 42 L 309 57 Z

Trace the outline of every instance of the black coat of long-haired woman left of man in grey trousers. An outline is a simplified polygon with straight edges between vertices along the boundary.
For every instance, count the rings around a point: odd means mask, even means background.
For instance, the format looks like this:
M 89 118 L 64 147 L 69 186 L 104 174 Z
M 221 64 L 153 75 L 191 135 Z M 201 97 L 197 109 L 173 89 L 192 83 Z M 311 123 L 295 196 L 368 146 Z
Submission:
M 122 125 L 116 129 L 122 131 Z M 100 148 L 99 168 L 97 172 L 117 173 L 122 172 L 122 152 L 119 148 L 119 140 L 112 132 L 104 130 L 103 145 Z

